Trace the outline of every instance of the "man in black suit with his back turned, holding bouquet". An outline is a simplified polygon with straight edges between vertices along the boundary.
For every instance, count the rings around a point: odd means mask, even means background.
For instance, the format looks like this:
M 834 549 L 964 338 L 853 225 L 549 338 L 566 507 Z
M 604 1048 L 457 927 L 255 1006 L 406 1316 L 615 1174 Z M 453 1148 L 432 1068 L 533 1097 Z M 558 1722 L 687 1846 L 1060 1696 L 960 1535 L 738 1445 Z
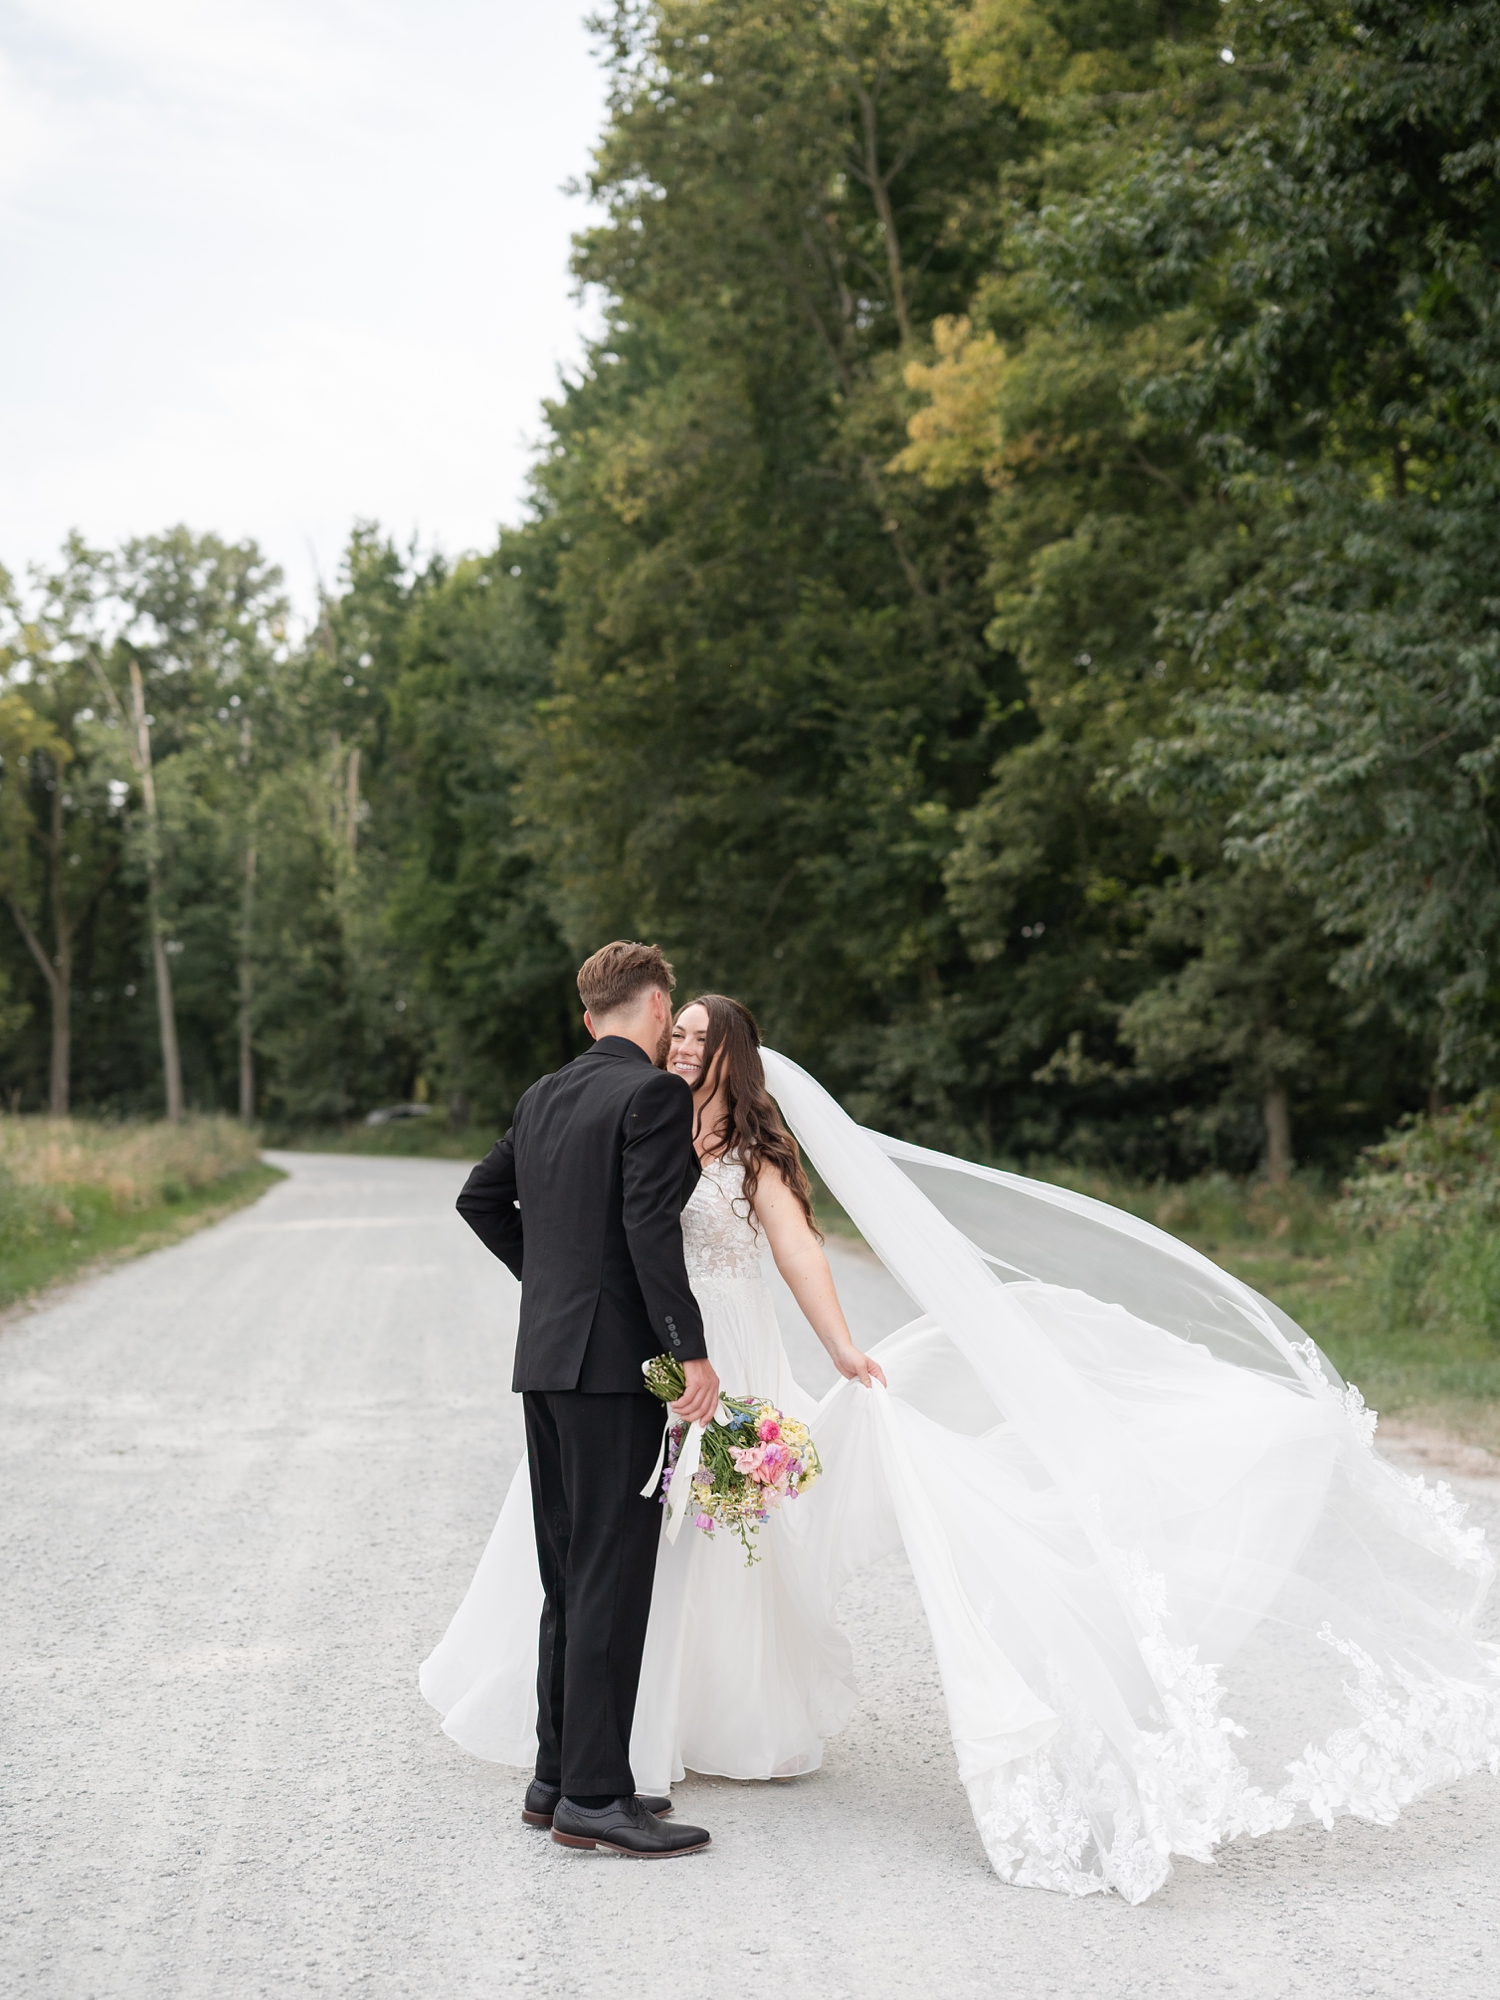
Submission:
M 522 1096 L 464 1184 L 458 1212 L 520 1278 L 516 1372 L 542 1572 L 536 1780 L 522 1818 L 568 1848 L 670 1856 L 708 1846 L 636 1798 L 630 1724 L 662 1510 L 642 1498 L 662 1408 L 640 1368 L 682 1362 L 674 1414 L 718 1408 L 682 1258 L 698 1184 L 692 1092 L 660 1064 L 672 966 L 654 944 L 606 944 L 578 972 L 594 1046 Z M 654 1810 L 652 1810 L 654 1808 Z

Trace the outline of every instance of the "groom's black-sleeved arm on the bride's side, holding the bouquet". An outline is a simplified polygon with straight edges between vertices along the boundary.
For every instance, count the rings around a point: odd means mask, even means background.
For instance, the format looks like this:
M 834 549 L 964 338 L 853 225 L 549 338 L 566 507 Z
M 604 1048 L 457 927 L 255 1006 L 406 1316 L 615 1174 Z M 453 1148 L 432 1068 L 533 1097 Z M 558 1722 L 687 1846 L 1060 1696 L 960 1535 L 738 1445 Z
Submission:
M 624 1120 L 624 1230 L 652 1332 L 680 1362 L 708 1360 L 682 1254 L 682 1186 L 692 1156 L 692 1090 L 680 1076 L 652 1070 Z

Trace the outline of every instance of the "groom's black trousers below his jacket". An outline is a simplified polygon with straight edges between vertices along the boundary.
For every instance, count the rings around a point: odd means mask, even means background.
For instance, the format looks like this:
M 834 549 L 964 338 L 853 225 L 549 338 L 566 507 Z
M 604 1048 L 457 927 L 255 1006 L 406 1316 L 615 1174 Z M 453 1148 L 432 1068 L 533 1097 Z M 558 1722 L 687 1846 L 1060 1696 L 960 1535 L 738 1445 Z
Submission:
M 654 1396 L 526 1390 L 542 1632 L 536 1776 L 570 1798 L 628 1798 L 630 1724 L 662 1508 L 640 1498 L 662 1444 Z

